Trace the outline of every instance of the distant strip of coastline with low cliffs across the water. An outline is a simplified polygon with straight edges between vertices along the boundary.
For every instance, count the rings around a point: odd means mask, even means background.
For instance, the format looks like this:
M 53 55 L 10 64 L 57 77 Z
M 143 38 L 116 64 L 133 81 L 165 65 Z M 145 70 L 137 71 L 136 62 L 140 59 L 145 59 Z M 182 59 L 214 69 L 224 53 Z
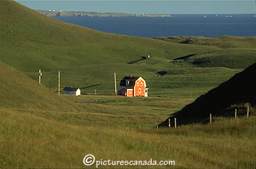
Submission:
M 63 12 L 56 10 L 36 10 L 46 16 L 91 16 L 91 17 L 172 17 L 170 14 L 126 14 L 126 13 L 110 13 L 110 12 Z

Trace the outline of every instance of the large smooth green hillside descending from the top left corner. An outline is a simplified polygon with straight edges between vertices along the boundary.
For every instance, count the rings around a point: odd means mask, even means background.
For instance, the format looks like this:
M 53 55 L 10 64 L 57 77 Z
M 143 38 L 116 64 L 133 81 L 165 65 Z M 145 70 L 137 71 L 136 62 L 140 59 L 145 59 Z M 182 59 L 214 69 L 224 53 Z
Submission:
M 23 71 L 126 64 L 148 54 L 172 59 L 216 49 L 105 34 L 56 21 L 14 1 L 1 1 L 0 15 L 1 61 Z

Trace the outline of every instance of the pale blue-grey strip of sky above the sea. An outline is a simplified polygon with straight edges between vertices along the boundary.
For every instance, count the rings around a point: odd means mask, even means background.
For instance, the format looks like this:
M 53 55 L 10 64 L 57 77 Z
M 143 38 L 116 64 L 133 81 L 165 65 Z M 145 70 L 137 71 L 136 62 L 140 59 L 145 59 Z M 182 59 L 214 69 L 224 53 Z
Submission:
M 256 14 L 255 0 L 16 0 L 34 10 L 130 14 Z

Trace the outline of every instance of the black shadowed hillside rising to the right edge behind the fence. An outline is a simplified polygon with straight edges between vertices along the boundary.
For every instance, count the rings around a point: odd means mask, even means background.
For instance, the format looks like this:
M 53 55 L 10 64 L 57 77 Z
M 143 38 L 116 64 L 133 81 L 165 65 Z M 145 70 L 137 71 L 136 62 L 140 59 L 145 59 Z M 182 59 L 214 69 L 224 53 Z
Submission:
M 238 112 L 243 111 L 244 105 L 251 107 L 251 112 L 255 112 L 256 105 L 256 63 L 246 68 L 241 73 L 237 73 L 229 81 L 222 83 L 218 88 L 214 88 L 200 96 L 194 103 L 185 106 L 170 117 L 184 123 L 189 123 L 189 119 L 204 118 L 212 116 L 226 116 L 231 114 L 235 108 Z M 193 121 L 193 120 L 191 120 Z M 168 119 L 161 125 L 167 125 Z M 183 124 L 183 122 L 181 122 Z

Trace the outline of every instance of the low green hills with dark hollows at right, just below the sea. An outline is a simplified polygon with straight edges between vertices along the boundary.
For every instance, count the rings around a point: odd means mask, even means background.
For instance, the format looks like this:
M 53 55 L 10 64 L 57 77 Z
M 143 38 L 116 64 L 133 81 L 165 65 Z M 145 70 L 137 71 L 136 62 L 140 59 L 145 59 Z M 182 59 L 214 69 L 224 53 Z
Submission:
M 155 38 L 165 42 L 178 44 L 195 44 L 219 47 L 216 51 L 206 53 L 191 53 L 174 59 L 176 62 L 189 62 L 202 67 L 246 68 L 256 62 L 256 37 L 221 36 L 218 38 L 204 37 L 170 37 Z

